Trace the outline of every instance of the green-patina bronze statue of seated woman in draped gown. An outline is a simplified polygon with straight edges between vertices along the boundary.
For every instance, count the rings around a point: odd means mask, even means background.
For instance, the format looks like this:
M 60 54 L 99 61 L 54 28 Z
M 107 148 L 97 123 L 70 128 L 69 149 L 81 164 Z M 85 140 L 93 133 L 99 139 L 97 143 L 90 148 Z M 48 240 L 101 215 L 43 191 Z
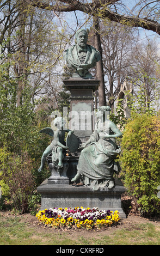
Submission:
M 112 121 L 106 119 L 105 112 L 109 110 L 109 107 L 102 106 L 97 112 L 95 130 L 88 141 L 81 145 L 83 150 L 79 156 L 77 174 L 71 180 L 81 178 L 85 186 L 93 190 L 113 188 L 113 175 L 120 172 L 119 163 L 115 160 L 121 148 L 116 145 L 115 138 L 121 137 L 122 133 Z

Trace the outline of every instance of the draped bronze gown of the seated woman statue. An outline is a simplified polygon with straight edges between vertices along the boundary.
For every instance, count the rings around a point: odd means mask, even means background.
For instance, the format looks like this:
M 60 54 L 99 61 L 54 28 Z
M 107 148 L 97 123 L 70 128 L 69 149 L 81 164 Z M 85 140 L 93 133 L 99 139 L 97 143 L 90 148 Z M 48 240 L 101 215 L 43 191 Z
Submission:
M 109 133 L 112 134 L 112 131 Z M 120 172 L 119 162 L 115 162 L 115 159 L 121 148 L 116 145 L 114 138 L 100 137 L 98 129 L 95 129 L 90 139 L 91 144 L 84 148 L 79 156 L 77 170 L 81 173 L 85 186 L 99 190 L 107 187 L 110 180 L 114 182 L 114 172 L 116 174 Z M 95 161 L 100 155 L 101 163 L 96 165 Z

